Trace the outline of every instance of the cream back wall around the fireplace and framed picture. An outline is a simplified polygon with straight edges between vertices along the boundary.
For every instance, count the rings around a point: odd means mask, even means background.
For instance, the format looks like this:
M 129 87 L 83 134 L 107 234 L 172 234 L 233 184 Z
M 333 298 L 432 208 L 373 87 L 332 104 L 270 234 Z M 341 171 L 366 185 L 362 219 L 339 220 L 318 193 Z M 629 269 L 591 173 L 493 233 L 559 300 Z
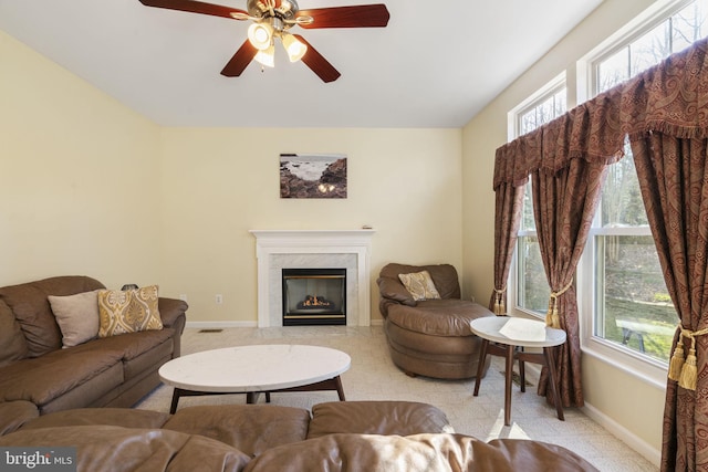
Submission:
M 460 129 L 166 128 L 160 140 L 160 281 L 188 296 L 192 322 L 256 322 L 251 229 L 372 225 L 374 321 L 387 262 L 461 269 Z M 281 199 L 281 153 L 346 154 L 347 198 Z

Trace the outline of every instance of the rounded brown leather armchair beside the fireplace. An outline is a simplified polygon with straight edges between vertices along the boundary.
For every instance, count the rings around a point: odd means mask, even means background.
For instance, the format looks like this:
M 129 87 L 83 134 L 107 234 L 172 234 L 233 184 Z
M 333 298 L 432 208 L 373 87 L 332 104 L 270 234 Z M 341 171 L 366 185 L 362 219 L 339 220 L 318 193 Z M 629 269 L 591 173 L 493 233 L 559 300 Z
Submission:
M 398 276 L 421 271 L 428 271 L 440 298 L 415 301 Z M 494 314 L 460 298 L 455 266 L 391 263 L 381 270 L 377 284 L 388 348 L 396 366 L 408 375 L 444 379 L 477 375 L 481 339 L 472 334 L 469 323 Z M 485 374 L 488 368 L 489 357 Z

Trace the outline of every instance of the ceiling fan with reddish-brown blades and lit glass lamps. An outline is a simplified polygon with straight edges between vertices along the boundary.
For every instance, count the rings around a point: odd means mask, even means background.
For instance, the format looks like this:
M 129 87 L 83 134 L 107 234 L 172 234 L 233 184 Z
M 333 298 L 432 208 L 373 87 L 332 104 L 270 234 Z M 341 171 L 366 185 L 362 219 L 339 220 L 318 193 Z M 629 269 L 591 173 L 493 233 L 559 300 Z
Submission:
M 221 75 L 227 77 L 241 75 L 253 60 L 272 67 L 274 41 L 280 38 L 291 62 L 302 60 L 322 81 L 336 81 L 341 75 L 340 72 L 304 38 L 292 34 L 290 29 L 295 25 L 305 29 L 384 28 L 388 24 L 389 18 L 388 10 L 383 3 L 300 10 L 295 0 L 248 0 L 248 11 L 244 11 L 196 0 L 139 1 L 146 7 L 252 21 L 248 30 L 248 39 L 221 71 Z

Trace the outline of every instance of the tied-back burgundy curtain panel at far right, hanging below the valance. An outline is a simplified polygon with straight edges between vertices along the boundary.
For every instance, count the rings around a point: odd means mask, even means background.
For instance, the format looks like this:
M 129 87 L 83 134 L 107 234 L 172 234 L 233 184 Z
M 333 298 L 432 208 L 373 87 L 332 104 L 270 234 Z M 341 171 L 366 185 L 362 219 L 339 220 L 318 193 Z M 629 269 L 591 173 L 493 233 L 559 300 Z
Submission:
M 708 469 L 708 377 L 681 379 L 680 366 L 691 353 L 693 374 L 708 366 L 708 338 L 696 335 L 708 326 L 708 160 L 707 139 L 681 139 L 652 133 L 632 143 L 637 175 L 659 260 L 683 333 L 674 339 L 679 365 L 667 382 L 662 470 Z M 675 353 L 676 354 L 676 353 Z M 693 363 L 693 361 L 691 361 Z M 671 360 L 671 367 L 676 360 Z

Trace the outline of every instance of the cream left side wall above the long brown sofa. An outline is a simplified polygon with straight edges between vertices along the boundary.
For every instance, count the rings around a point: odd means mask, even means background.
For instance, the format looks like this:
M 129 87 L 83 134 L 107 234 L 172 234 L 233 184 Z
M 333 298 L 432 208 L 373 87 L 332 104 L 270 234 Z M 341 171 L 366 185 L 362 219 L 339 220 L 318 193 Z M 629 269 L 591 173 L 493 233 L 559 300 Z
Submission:
M 158 128 L 0 32 L 0 286 L 157 280 Z

